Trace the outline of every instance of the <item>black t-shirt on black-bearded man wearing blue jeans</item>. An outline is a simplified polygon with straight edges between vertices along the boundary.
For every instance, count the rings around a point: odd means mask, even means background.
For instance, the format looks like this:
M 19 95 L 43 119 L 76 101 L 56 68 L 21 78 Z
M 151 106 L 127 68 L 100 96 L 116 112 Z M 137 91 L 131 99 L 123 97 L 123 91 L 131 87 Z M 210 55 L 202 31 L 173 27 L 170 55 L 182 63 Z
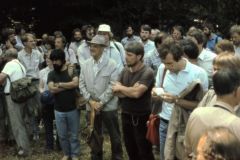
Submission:
M 76 77 L 77 73 L 74 72 L 72 77 Z M 68 70 L 62 71 L 60 73 L 55 72 L 54 70 L 48 74 L 49 82 L 71 82 L 72 77 L 69 76 Z M 67 89 L 62 92 L 54 94 L 55 103 L 54 108 L 59 112 L 69 112 L 76 108 L 76 88 Z

